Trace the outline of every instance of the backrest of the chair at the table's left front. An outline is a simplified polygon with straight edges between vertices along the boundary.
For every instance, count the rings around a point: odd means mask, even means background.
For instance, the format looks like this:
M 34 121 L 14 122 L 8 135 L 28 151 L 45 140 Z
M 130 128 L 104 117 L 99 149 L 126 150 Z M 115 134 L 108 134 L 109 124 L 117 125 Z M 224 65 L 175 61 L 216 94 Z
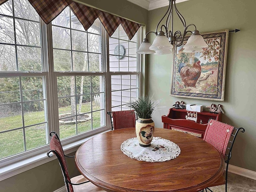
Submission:
M 60 139 L 58 137 L 58 135 L 55 132 L 51 132 L 50 136 L 52 136 L 52 139 L 50 141 L 50 151 L 47 153 L 47 155 L 50 157 L 52 156 L 50 153 L 54 153 L 58 160 L 59 160 L 59 164 L 62 170 L 62 175 L 64 178 L 64 182 L 66 185 L 66 190 L 67 192 L 74 192 L 73 186 L 72 184 L 68 183 L 67 180 L 70 182 L 70 176 L 68 174 L 68 166 L 66 163 L 66 158 L 64 155 L 64 151 L 62 148 L 62 145 L 60 143 Z

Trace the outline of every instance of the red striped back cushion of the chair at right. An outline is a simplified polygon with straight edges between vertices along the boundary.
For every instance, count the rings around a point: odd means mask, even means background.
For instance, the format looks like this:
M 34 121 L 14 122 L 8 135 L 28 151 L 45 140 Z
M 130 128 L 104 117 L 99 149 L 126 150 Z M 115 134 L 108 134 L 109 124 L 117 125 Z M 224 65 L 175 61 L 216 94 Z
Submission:
M 204 140 L 214 146 L 225 158 L 226 148 L 234 126 L 210 119 L 204 134 Z

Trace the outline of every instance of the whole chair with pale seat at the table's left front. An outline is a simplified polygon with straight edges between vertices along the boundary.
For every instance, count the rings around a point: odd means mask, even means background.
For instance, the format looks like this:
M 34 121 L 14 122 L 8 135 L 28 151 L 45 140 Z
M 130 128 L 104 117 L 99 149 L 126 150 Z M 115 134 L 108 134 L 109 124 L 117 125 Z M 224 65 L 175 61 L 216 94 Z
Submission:
M 104 190 L 92 184 L 82 175 L 70 178 L 68 174 L 66 157 L 74 156 L 66 156 L 64 154 L 60 139 L 55 132 L 51 132 L 50 136 L 52 136 L 52 139 L 50 141 L 50 151 L 48 151 L 47 155 L 48 157 L 52 157 L 53 154 L 57 156 L 64 177 L 67 192 L 104 192 Z

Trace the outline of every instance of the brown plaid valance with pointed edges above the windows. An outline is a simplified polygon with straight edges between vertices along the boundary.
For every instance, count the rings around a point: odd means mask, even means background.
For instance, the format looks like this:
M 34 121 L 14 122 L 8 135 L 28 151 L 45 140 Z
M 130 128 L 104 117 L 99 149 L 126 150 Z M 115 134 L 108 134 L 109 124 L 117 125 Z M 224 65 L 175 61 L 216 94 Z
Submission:
M 7 1 L 8 0 L 0 0 L 0 5 Z M 54 20 L 54 18 L 56 18 L 67 6 L 70 6 L 78 20 L 84 26 L 85 30 L 88 30 L 94 23 L 94 20 L 99 18 L 109 36 L 111 36 L 116 28 L 121 24 L 128 38 L 131 40 L 141 26 L 141 24 L 73 2 L 72 0 L 28 1 L 46 24 L 52 22 L 52 20 Z

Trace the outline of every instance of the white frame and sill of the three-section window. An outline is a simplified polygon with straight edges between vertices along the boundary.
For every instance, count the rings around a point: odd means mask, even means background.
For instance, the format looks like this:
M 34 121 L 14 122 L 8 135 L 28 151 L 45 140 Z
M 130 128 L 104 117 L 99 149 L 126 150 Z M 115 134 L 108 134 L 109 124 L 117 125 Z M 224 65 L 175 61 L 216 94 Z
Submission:
M 63 76 L 62 72 L 54 72 L 53 68 L 53 49 L 52 49 L 52 25 L 46 25 L 40 18 L 40 28 L 41 28 L 41 39 L 42 39 L 42 52 L 46 53 L 42 55 L 42 63 L 44 72 L 0 72 L 0 77 L 12 77 L 12 76 L 45 76 L 46 78 L 46 96 L 47 96 L 47 113 L 48 113 L 48 133 L 51 131 L 59 132 L 59 122 L 58 122 L 58 95 L 57 91 L 57 78 L 56 76 Z M 98 72 L 98 74 L 105 76 L 105 122 L 106 126 L 91 130 L 84 134 L 79 134 L 70 138 L 62 140 L 62 145 L 66 154 L 75 152 L 80 144 L 86 140 L 92 138 L 96 134 L 110 131 L 110 120 L 107 118 L 107 111 L 111 110 L 111 75 L 117 74 L 117 72 L 109 71 L 109 48 L 108 39 L 109 36 L 102 26 L 102 66 L 103 72 Z M 142 38 L 141 28 L 138 30 L 138 46 Z M 47 41 L 46 41 L 47 40 Z M 47 55 L 48 54 L 48 55 Z M 137 54 L 137 65 L 138 72 L 118 72 L 120 75 L 130 75 L 138 74 L 139 76 L 139 95 L 141 94 L 142 86 L 142 65 L 141 56 Z M 65 74 L 70 75 L 95 75 L 94 72 L 70 72 Z M 49 134 L 48 134 L 49 135 Z M 50 140 L 50 136 L 48 136 Z M 56 157 L 48 158 L 46 153 L 49 150 L 49 144 L 41 146 L 39 148 L 29 150 L 28 152 L 22 152 L 20 154 L 4 158 L 0 160 L 0 181 L 10 178 L 16 174 L 22 173 L 36 166 L 42 165 L 46 162 L 54 160 Z

